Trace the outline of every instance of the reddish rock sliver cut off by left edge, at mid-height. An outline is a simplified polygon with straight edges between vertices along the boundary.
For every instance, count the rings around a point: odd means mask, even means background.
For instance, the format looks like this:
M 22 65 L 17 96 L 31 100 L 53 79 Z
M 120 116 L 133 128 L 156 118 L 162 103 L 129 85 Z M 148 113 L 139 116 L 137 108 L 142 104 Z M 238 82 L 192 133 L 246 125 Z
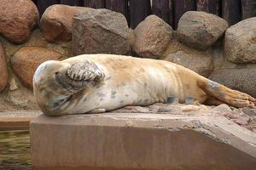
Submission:
M 7 65 L 5 54 L 3 50 L 3 46 L 0 42 L 0 92 L 6 88 L 8 84 L 8 72 L 7 72 Z

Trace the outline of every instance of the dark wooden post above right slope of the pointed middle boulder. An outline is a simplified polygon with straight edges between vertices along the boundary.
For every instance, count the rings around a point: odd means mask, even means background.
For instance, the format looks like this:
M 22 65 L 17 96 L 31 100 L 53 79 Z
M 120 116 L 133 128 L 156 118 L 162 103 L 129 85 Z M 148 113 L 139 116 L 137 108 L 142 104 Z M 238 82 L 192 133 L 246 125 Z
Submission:
M 173 26 L 174 8 L 172 0 L 153 0 L 152 14 L 159 16 L 166 23 Z

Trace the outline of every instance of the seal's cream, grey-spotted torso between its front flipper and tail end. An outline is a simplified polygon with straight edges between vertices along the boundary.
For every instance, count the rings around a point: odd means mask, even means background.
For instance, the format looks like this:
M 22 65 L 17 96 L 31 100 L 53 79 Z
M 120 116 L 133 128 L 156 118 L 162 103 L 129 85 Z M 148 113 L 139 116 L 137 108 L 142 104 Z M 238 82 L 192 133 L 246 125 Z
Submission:
M 101 56 L 103 57 L 103 56 Z M 89 58 L 105 73 L 99 86 L 84 89 L 76 97 L 75 112 L 95 109 L 111 111 L 125 105 L 151 105 L 176 97 L 183 103 L 186 97 L 203 99 L 191 71 L 166 61 L 133 58 Z M 108 62 L 107 62 L 108 61 Z M 190 78 L 191 77 L 191 78 Z

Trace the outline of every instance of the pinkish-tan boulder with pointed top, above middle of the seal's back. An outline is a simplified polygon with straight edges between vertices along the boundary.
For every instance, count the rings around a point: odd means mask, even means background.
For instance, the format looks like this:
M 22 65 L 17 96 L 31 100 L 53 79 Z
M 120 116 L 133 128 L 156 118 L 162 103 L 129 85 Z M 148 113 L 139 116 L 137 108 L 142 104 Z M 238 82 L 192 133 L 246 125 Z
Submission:
M 133 50 L 141 57 L 159 59 L 172 41 L 172 27 L 154 14 L 143 20 L 134 32 Z

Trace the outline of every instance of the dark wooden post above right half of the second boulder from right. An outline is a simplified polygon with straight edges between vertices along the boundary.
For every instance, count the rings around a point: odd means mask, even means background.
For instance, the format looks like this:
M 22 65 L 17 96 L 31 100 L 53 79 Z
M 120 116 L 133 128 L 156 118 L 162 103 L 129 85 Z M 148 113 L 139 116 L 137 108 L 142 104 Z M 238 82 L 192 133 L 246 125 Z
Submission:
M 196 10 L 220 15 L 220 0 L 196 0 Z

